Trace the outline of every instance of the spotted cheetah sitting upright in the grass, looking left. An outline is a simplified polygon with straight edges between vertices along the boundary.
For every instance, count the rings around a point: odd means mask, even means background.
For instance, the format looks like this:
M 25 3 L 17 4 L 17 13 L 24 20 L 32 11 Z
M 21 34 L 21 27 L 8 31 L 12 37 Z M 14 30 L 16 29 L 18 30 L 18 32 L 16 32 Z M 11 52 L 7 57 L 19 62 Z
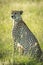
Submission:
M 34 58 L 40 58 L 42 50 L 39 46 L 39 42 L 35 35 L 31 32 L 28 26 L 22 20 L 23 11 L 12 11 L 11 17 L 14 20 L 14 26 L 12 30 L 12 37 L 14 40 L 15 50 L 19 43 L 19 46 L 23 47 L 22 52 L 24 55 L 31 55 Z M 21 47 L 20 47 L 21 48 Z M 20 50 L 21 51 L 21 50 Z M 15 51 L 16 52 L 16 51 Z

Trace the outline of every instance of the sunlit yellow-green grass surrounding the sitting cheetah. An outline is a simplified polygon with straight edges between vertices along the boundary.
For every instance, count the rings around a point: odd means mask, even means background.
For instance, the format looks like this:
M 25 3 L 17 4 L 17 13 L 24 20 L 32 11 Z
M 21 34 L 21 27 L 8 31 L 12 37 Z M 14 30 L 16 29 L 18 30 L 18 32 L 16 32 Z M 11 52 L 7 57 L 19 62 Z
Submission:
M 22 18 L 38 39 L 43 50 L 43 0 L 0 0 L 0 65 L 7 65 L 6 63 L 12 65 L 13 63 L 12 10 L 24 11 Z M 32 59 L 29 61 L 29 58 L 25 56 L 14 57 L 14 63 L 17 65 L 41 65 L 40 62 L 37 63 Z

